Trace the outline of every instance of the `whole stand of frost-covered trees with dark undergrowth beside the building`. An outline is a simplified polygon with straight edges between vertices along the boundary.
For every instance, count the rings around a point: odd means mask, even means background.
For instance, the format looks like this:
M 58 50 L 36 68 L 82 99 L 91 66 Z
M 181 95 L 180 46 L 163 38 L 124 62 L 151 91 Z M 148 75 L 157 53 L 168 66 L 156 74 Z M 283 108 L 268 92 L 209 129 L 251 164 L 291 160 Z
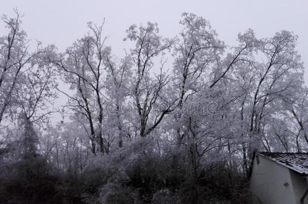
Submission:
M 293 32 L 247 29 L 227 45 L 183 13 L 173 38 L 157 23 L 123 28 L 119 58 L 104 22 L 59 52 L 22 17 L 2 16 L 1 203 L 252 203 L 256 152 L 308 150 Z

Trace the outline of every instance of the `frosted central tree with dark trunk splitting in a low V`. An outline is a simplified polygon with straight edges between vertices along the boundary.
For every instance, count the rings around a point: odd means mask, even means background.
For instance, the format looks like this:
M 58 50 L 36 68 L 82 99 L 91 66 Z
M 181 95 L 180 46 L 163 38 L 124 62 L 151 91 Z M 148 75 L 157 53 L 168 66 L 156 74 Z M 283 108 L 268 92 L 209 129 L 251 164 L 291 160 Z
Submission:
M 165 94 L 169 76 L 165 68 L 163 55 L 170 49 L 172 41 L 159 36 L 157 24 L 147 23 L 146 26 L 132 25 L 127 31 L 127 38 L 135 42 L 130 50 L 133 64 L 131 97 L 133 115 L 131 122 L 135 132 L 146 137 L 158 127 L 174 101 L 169 101 Z M 160 58 L 161 57 L 161 58 Z M 158 65 L 155 60 L 159 60 Z M 158 73 L 151 72 L 156 67 Z

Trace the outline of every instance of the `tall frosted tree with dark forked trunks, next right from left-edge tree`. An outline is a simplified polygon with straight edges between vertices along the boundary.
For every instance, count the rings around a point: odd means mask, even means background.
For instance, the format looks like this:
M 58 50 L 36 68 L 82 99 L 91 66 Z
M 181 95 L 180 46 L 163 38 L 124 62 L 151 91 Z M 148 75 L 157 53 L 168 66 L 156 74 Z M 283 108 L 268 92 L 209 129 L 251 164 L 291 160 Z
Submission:
M 63 91 L 62 93 L 69 97 L 68 107 L 77 115 L 81 114 L 86 118 L 87 123 L 84 125 L 89 129 L 93 154 L 96 154 L 96 151 L 100 153 L 105 151 L 102 127 L 105 103 L 102 95 L 105 86 L 103 72 L 111 48 L 105 45 L 107 38 L 102 36 L 103 25 L 88 23 L 90 29 L 88 35 L 77 40 L 65 53 L 48 56 L 49 61 L 63 73 L 64 82 L 70 85 L 70 89 L 76 91 L 74 95 Z

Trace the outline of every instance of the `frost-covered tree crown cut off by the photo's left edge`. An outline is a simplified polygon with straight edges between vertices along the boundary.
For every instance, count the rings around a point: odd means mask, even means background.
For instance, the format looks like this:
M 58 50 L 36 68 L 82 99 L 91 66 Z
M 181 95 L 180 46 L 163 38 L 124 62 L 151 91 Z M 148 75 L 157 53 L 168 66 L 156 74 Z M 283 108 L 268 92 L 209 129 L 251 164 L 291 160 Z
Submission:
M 41 116 L 36 115 L 37 110 L 45 109 L 48 99 L 56 98 L 52 90 L 55 74 L 42 60 L 50 48 L 38 42 L 35 51 L 29 51 L 30 40 L 21 28 L 21 15 L 14 11 L 16 18 L 2 17 L 9 33 L 0 38 L 0 124 L 4 118 L 18 118 L 20 111 L 38 119 Z

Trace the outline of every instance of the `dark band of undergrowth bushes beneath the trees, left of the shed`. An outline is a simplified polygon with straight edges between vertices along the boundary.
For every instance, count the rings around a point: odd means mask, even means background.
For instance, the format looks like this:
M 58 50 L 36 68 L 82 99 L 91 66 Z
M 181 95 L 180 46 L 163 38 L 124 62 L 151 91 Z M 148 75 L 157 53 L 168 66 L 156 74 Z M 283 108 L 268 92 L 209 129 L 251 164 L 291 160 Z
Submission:
M 89 157 L 82 171 L 51 168 L 40 156 L 2 162 L 2 203 L 252 203 L 244 178 L 224 162 L 194 179 L 180 149 L 158 151 L 136 139 L 110 155 Z M 203 166 L 203 167 L 204 167 Z M 200 171 L 200 169 L 199 169 Z

